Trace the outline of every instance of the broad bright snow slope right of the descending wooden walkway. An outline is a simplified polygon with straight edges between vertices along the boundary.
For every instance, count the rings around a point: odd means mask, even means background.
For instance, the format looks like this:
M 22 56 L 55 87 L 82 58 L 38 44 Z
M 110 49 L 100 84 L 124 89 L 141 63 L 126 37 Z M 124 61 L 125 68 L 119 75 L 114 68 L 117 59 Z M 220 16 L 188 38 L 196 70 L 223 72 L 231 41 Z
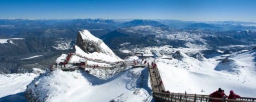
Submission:
M 236 94 L 242 97 L 255 97 L 256 67 L 255 63 L 252 62 L 254 52 L 241 51 L 225 55 L 238 62 L 232 63 L 232 65 L 244 66 L 237 69 L 241 72 L 239 74 L 226 70 L 216 71 L 216 67 L 221 63 L 219 59 L 225 59 L 226 57 L 214 57 L 198 61 L 198 59 L 189 57 L 182 52 L 176 55 L 176 59 L 158 59 L 157 66 L 164 86 L 170 92 L 184 93 L 186 91 L 189 94 L 210 94 L 218 88 L 222 88 L 227 95 L 230 90 L 234 90 Z M 248 65 L 248 63 L 251 65 Z M 233 68 L 233 66 L 227 65 L 220 69 L 230 68 Z

